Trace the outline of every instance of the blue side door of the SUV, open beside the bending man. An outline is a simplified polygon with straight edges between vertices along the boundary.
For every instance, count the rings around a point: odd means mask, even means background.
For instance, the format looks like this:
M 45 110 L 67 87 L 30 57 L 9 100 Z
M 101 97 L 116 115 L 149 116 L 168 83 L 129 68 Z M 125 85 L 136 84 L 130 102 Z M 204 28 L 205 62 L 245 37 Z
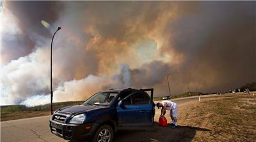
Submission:
M 150 91 L 150 96 L 146 91 Z M 116 106 L 119 126 L 153 125 L 153 89 L 136 90 Z

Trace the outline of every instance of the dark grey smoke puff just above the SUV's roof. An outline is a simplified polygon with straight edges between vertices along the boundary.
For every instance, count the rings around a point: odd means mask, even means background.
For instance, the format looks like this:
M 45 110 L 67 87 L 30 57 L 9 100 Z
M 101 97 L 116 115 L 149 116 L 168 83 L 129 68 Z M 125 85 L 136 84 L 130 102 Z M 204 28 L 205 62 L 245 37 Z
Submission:
M 154 60 L 131 69 L 127 64 L 120 66 L 120 73 L 111 76 L 112 82 L 106 88 L 145 88 L 163 82 L 164 78 L 170 73 L 168 64 Z

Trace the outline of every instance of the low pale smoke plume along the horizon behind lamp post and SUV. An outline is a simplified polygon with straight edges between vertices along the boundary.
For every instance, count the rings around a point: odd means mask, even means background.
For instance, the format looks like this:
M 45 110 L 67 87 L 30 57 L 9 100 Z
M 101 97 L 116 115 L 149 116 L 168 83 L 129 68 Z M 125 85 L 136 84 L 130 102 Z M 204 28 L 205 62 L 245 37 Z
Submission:
M 106 85 L 105 76 L 88 75 L 81 80 L 72 80 L 63 83 L 53 92 L 53 101 L 83 101 L 94 93 L 102 90 L 102 86 Z M 36 95 L 27 97 L 20 104 L 26 106 L 38 106 L 50 103 L 51 96 L 49 95 Z

